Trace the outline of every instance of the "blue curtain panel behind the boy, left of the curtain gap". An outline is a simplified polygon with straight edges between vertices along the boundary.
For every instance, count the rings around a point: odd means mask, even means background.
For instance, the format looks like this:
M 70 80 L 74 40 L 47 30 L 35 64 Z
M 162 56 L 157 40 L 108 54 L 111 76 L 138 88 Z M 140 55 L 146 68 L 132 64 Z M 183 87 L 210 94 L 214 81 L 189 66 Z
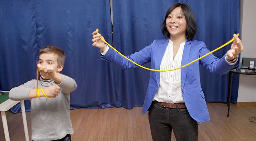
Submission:
M 0 89 L 36 79 L 39 50 L 50 44 L 65 51 L 62 73 L 77 83 L 71 108 L 120 107 L 113 68 L 91 45 L 97 28 L 112 41 L 109 0 L 4 0 L 0 17 Z M 30 101 L 25 106 L 30 110 Z M 20 105 L 11 111 L 19 112 Z

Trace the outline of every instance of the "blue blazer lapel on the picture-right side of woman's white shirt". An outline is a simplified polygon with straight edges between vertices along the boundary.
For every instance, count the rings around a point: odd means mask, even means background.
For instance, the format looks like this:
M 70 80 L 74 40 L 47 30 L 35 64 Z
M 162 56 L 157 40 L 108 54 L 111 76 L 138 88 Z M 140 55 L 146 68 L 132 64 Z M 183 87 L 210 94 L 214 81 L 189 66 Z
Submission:
M 186 43 L 185 43 L 183 54 L 182 54 L 181 66 L 189 63 L 188 61 L 189 61 L 190 49 L 191 49 L 191 41 L 187 41 L 186 39 Z M 187 76 L 187 66 L 184 68 L 181 68 L 181 88 L 184 87 L 186 76 Z

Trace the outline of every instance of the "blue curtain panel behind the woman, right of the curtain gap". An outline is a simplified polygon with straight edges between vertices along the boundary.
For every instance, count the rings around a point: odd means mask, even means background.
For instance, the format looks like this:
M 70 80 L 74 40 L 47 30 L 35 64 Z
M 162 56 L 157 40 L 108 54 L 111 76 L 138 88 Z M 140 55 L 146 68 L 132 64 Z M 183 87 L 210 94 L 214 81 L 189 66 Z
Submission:
M 125 55 L 130 55 L 163 39 L 161 24 L 167 9 L 175 3 L 191 7 L 197 21 L 195 40 L 202 40 L 210 51 L 239 33 L 239 0 L 113 0 L 113 44 Z M 221 58 L 230 45 L 214 53 Z M 147 65 L 146 65 L 147 66 Z M 201 85 L 206 101 L 227 101 L 228 74 L 210 74 L 200 68 Z M 115 83 L 122 106 L 143 105 L 149 79 L 147 70 L 115 68 Z M 234 76 L 232 102 L 237 101 L 239 76 Z

